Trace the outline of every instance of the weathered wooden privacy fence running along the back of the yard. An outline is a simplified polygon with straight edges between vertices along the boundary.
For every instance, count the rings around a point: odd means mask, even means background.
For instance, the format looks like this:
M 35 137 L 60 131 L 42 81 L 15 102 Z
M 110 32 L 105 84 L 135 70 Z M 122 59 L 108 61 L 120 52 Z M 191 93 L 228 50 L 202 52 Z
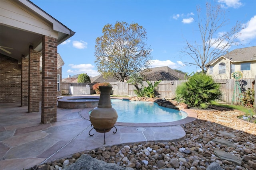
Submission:
M 158 84 L 158 93 L 160 98 L 169 98 L 174 99 L 175 98 L 175 91 L 176 87 L 180 85 L 182 82 L 185 82 L 186 80 L 178 80 L 178 81 L 161 81 Z M 242 79 L 243 83 L 241 84 L 241 90 L 245 91 L 248 90 L 248 88 L 254 88 L 252 82 L 254 81 L 253 78 L 251 79 Z M 232 103 L 233 93 L 234 93 L 234 79 L 226 79 L 226 80 L 216 80 L 217 83 L 221 84 L 221 91 L 222 91 L 222 101 L 226 102 L 227 104 Z M 96 83 L 62 83 L 62 95 L 68 95 L 69 87 L 70 86 L 86 86 L 90 85 L 91 88 L 91 94 L 94 94 L 94 90 L 92 90 L 92 86 Z M 134 85 L 128 84 L 127 82 L 110 82 L 113 89 L 113 95 L 117 96 L 136 96 L 134 93 L 134 90 L 136 89 Z M 154 81 L 152 81 L 152 84 L 154 84 Z M 144 86 L 148 86 L 147 82 L 143 82 Z M 141 86 L 139 85 L 141 88 Z M 238 100 L 238 99 L 236 99 Z M 234 103 L 235 104 L 235 103 Z

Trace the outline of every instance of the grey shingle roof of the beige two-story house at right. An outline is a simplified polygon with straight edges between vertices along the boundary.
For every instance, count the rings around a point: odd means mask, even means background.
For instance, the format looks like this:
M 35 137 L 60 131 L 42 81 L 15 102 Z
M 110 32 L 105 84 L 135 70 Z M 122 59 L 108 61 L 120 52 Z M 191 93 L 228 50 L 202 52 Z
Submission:
M 256 60 L 256 46 L 246 47 L 241 49 L 235 49 L 229 53 L 214 59 L 210 65 L 213 65 L 220 58 L 226 58 L 232 63 L 244 62 L 244 61 L 255 61 Z

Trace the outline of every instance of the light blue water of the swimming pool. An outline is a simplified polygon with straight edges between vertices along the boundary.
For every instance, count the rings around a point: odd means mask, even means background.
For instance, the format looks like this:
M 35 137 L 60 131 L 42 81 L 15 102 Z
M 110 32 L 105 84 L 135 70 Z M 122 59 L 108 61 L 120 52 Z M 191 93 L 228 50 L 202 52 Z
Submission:
M 155 102 L 111 99 L 111 104 L 118 113 L 117 122 L 160 123 L 181 120 L 187 113 L 158 106 Z

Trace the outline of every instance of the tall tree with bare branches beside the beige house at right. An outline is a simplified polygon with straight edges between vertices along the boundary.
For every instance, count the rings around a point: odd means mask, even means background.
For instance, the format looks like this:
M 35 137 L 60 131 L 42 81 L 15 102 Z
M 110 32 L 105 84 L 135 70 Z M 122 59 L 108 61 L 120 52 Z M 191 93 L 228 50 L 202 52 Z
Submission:
M 206 2 L 206 15 L 202 15 L 202 8 L 197 6 L 197 20 L 200 41 L 190 43 L 186 39 L 186 47 L 181 51 L 186 57 L 184 64 L 191 66 L 199 66 L 202 72 L 207 72 L 209 64 L 216 58 L 224 55 L 231 45 L 237 45 L 239 41 L 237 37 L 242 29 L 242 23 L 236 22 L 236 25 L 229 31 L 222 29 L 228 25 L 229 20 L 226 19 L 225 11 L 220 5 L 212 6 Z M 192 62 L 188 62 L 187 57 L 192 58 Z

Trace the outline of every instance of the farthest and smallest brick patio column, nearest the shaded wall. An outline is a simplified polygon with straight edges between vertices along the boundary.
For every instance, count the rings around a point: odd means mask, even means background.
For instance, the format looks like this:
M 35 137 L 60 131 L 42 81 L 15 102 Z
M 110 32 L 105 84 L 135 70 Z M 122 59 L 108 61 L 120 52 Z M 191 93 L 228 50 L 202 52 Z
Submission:
M 28 58 L 22 56 L 21 60 L 21 106 L 28 106 Z

